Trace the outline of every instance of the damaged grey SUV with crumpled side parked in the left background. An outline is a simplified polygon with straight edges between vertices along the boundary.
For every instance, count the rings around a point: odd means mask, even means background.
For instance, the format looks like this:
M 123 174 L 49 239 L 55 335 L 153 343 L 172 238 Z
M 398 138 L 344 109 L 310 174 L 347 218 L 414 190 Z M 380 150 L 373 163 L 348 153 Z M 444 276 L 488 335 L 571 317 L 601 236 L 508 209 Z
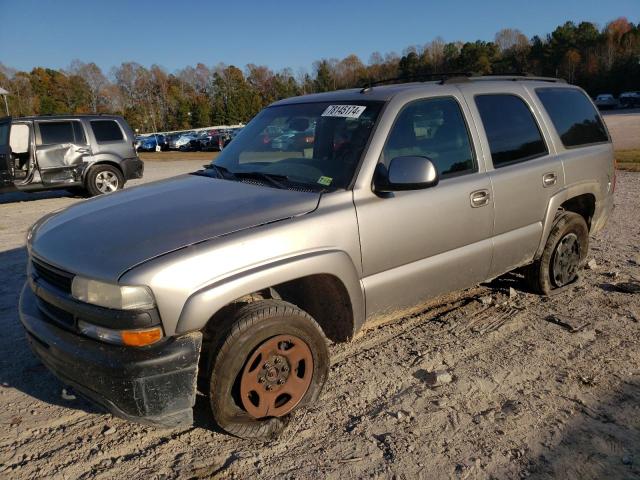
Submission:
M 66 188 L 100 195 L 141 178 L 143 169 L 120 116 L 0 118 L 0 192 Z

